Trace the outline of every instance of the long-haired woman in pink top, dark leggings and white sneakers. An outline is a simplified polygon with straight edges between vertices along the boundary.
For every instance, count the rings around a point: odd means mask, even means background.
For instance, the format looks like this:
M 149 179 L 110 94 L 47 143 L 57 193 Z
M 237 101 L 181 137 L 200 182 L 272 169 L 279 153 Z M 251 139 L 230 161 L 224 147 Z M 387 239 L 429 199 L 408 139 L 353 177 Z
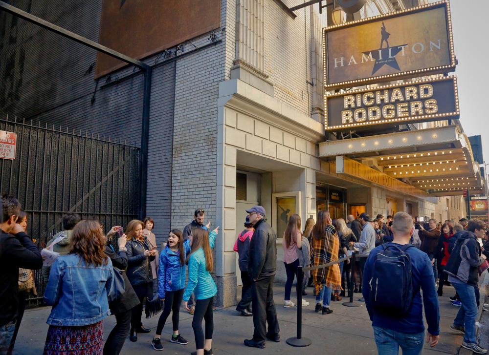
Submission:
M 282 246 L 284 247 L 284 257 L 282 261 L 285 265 L 285 271 L 287 272 L 287 282 L 285 283 L 285 308 L 293 307 L 295 304 L 290 300 L 290 291 L 292 290 L 292 282 L 297 275 L 297 268 L 299 267 L 299 257 L 297 256 L 297 248 L 302 248 L 302 233 L 301 233 L 301 216 L 294 213 L 289 217 L 289 223 L 287 229 L 284 232 L 284 241 Z M 303 306 L 308 306 L 309 302 L 302 300 Z

